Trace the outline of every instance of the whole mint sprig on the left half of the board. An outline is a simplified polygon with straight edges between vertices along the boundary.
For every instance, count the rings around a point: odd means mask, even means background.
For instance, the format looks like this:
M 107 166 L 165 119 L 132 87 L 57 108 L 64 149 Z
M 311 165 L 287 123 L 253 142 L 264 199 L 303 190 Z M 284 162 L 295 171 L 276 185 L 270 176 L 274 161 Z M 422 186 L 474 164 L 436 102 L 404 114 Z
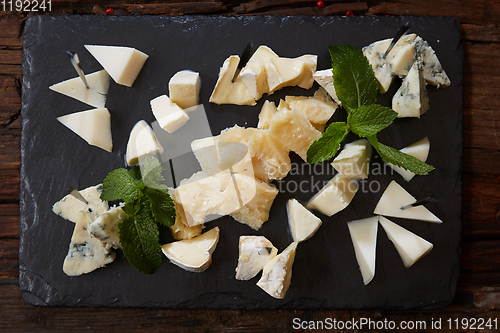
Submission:
M 153 156 L 145 160 L 143 177 L 138 166 L 116 169 L 103 181 L 101 200 L 125 202 L 129 217 L 118 224 L 120 244 L 128 262 L 139 272 L 153 274 L 160 266 L 159 225 L 175 223 L 175 205 L 161 174 L 161 163 Z

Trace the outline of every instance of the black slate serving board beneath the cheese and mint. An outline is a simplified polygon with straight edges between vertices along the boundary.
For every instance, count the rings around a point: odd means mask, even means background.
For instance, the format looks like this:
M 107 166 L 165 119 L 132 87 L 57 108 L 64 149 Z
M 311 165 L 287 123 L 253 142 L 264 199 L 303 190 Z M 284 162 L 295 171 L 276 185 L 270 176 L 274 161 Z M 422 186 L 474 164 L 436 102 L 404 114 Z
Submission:
M 331 218 L 321 216 L 316 235 L 301 243 L 293 268 L 292 285 L 283 300 L 276 300 L 251 281 L 237 281 L 234 269 L 240 235 L 262 234 L 279 251 L 290 242 L 285 203 L 291 197 L 306 201 L 317 191 L 314 184 L 328 180 L 328 164 L 315 168 L 292 154 L 295 168 L 276 183 L 282 193 L 275 200 L 270 219 L 261 231 L 224 217 L 208 224 L 221 228 L 212 266 L 204 273 L 188 273 L 164 258 L 151 276 L 135 271 L 123 258 L 106 268 L 79 277 L 68 277 L 62 263 L 74 224 L 51 212 L 67 186 L 85 188 L 102 181 L 114 168 L 123 167 L 128 133 L 139 119 L 154 120 L 149 100 L 168 92 L 168 80 L 178 70 L 192 69 L 202 78 L 201 101 L 213 134 L 239 124 L 256 126 L 265 99 L 278 101 L 293 94 L 312 94 L 300 88 L 283 89 L 262 98 L 255 107 L 217 106 L 208 103 L 219 66 L 230 54 L 239 54 L 252 40 L 266 44 L 281 56 L 305 53 L 319 56 L 318 69 L 328 68 L 328 45 L 350 44 L 361 48 L 392 37 L 405 22 L 412 32 L 436 50 L 450 76 L 447 89 L 430 87 L 430 111 L 421 119 L 399 119 L 380 133 L 381 142 L 404 147 L 429 136 L 428 162 L 437 170 L 410 183 L 398 175 L 372 174 L 351 205 Z M 436 308 L 451 302 L 459 270 L 461 231 L 462 154 L 462 49 L 460 25 L 441 17 L 104 17 L 34 16 L 26 23 L 23 58 L 23 129 L 21 169 L 21 239 L 19 284 L 24 299 L 35 305 L 140 306 L 169 308 L 314 309 L 314 308 Z M 112 115 L 114 149 L 107 153 L 87 145 L 56 121 L 57 116 L 90 109 L 71 98 L 51 92 L 48 86 L 74 77 L 66 50 L 80 55 L 90 73 L 101 67 L 84 44 L 125 45 L 150 55 L 133 88 L 111 83 L 107 107 Z M 381 102 L 390 105 L 390 95 Z M 315 86 L 316 87 L 316 86 Z M 334 120 L 345 118 L 337 112 Z M 372 170 L 380 170 L 375 157 Z M 300 170 L 299 170 L 300 169 Z M 375 172 L 374 172 L 375 173 Z M 434 249 L 413 267 L 403 267 L 396 250 L 379 228 L 377 269 L 373 281 L 363 286 L 346 222 L 373 216 L 385 187 L 395 179 L 417 198 L 433 194 L 438 203 L 427 207 L 444 223 L 391 219 L 434 244 Z M 292 184 L 305 181 L 302 189 Z M 376 184 L 380 186 L 376 186 Z M 208 229 L 207 229 L 208 230 Z M 169 241 L 163 232 L 164 241 Z

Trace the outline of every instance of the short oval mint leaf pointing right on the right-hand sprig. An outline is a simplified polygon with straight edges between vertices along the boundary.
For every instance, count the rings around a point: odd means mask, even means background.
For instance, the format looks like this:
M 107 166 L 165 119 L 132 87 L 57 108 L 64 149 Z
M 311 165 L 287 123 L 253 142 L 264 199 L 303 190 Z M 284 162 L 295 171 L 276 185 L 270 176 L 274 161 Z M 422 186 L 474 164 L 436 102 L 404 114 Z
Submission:
M 375 135 L 396 119 L 397 113 L 380 104 L 362 105 L 347 117 L 351 131 L 366 138 Z

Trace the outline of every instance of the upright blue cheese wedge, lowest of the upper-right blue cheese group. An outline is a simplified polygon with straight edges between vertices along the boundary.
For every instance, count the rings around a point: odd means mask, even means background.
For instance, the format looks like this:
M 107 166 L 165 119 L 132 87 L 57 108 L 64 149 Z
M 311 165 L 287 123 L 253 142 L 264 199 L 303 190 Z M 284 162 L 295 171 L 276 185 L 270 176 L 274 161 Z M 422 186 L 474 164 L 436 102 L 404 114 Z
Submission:
M 397 112 L 398 118 L 420 118 L 429 110 L 429 97 L 421 67 L 420 61 L 413 63 L 401 87 L 392 98 L 392 109 Z

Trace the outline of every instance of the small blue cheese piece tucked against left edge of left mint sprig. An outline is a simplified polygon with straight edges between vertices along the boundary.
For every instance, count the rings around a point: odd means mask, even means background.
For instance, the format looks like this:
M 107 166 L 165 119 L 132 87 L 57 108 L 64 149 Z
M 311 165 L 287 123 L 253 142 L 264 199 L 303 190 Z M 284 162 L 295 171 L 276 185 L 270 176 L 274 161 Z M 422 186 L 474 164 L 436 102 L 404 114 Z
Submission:
M 122 209 L 123 206 L 124 204 L 112 207 L 107 212 L 97 216 L 95 221 L 89 225 L 88 232 L 99 239 L 107 249 L 122 247 L 118 224 L 128 217 Z

